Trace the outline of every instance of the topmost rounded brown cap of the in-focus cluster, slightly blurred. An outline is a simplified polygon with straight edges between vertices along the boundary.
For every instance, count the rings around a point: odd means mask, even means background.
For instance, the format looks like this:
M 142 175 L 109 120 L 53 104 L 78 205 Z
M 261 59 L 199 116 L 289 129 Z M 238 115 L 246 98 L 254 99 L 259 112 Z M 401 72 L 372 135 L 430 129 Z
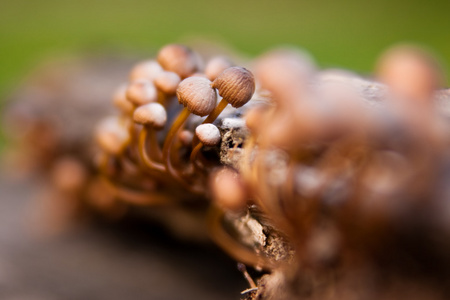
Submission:
M 158 53 L 158 63 L 166 71 L 177 73 L 186 78 L 198 69 L 195 53 L 186 46 L 170 44 L 163 47 Z

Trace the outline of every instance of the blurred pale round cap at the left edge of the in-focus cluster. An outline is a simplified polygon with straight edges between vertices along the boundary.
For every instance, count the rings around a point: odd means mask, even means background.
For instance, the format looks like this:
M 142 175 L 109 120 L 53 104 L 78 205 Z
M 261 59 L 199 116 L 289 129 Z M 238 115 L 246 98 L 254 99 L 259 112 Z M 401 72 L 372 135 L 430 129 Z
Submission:
M 125 150 L 130 135 L 122 120 L 117 117 L 108 117 L 98 124 L 96 140 L 105 152 L 119 155 Z

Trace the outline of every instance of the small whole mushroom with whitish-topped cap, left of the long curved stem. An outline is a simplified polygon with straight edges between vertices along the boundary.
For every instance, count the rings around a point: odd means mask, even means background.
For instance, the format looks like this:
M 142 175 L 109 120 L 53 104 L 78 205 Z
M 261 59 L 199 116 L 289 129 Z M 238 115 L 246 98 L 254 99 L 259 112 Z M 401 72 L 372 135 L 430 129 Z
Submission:
M 148 103 L 136 108 L 133 114 L 133 120 L 137 124 L 143 125 L 139 134 L 139 156 L 144 164 L 153 170 L 165 171 L 163 164 L 152 160 L 153 157 L 161 158 L 161 148 L 158 145 L 156 130 L 164 128 L 167 122 L 167 113 L 159 103 Z M 146 151 L 147 135 L 150 139 L 150 157 Z M 152 155 L 153 154 L 153 155 Z

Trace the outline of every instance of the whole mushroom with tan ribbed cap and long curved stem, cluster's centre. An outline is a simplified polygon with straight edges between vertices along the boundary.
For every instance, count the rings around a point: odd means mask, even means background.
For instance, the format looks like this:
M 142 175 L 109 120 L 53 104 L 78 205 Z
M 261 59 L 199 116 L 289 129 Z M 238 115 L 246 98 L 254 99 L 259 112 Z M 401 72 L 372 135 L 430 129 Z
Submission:
M 173 122 L 163 146 L 163 161 L 166 170 L 178 181 L 184 180 L 174 169 L 171 162 L 171 149 L 178 131 L 186 122 L 191 113 L 198 116 L 206 116 L 214 109 L 217 101 L 217 94 L 211 87 L 211 81 L 202 77 L 189 77 L 183 80 L 176 91 L 178 102 L 184 108 Z

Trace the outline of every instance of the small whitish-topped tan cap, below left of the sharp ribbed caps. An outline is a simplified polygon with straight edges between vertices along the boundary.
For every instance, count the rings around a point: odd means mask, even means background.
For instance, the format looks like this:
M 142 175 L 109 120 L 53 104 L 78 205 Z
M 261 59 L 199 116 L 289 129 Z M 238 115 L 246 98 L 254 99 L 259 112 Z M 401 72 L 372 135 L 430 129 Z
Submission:
M 134 122 L 162 129 L 167 122 L 167 112 L 159 103 L 148 103 L 136 108 L 133 114 Z

